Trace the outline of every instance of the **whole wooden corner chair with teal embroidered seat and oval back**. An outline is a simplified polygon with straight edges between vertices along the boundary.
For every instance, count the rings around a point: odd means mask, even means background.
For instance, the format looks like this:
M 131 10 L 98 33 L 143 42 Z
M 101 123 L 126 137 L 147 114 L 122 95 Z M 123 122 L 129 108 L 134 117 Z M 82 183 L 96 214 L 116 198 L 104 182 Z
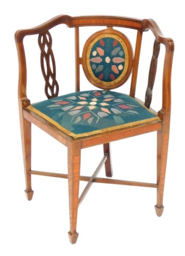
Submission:
M 51 35 L 52 29 L 61 24 L 75 30 L 76 88 L 73 90 L 71 87 L 71 93 L 65 95 L 59 94 L 57 82 L 57 71 L 62 72 L 65 65 L 63 69 L 59 67 L 56 69 Z M 90 29 L 92 26 L 97 31 L 87 38 L 83 52 L 80 54 L 79 31 L 83 32 L 82 27 Z M 98 27 L 101 28 L 97 29 Z M 134 53 L 133 46 L 125 35 L 129 30 L 135 33 Z M 152 42 L 153 52 L 151 51 L 151 64 L 149 64 L 148 83 L 146 82 L 145 102 L 143 102 L 135 97 L 135 88 L 138 83 L 137 77 L 139 77 L 138 66 L 141 65 L 139 64 L 141 41 L 145 31 L 151 31 L 149 34 L 153 36 L 154 45 Z M 45 80 L 47 99 L 43 97 L 42 101 L 37 103 L 30 103 L 27 97 L 27 63 L 23 39 L 28 35 L 38 35 L 41 70 Z M 63 38 L 65 38 L 65 34 L 63 34 Z M 54 17 L 38 27 L 19 30 L 15 33 L 15 41 L 19 63 L 18 103 L 26 175 L 25 192 L 28 200 L 33 197 L 32 175 L 67 178 L 69 182 L 69 237 L 71 243 L 76 243 L 78 238 L 76 231 L 78 205 L 82 202 L 92 182 L 157 188 L 155 209 L 157 216 L 161 216 L 164 209 L 163 192 L 170 129 L 170 84 L 174 42 L 162 34 L 152 19 L 140 20 L 116 16 L 70 17 L 67 15 Z M 162 67 L 163 69 L 162 108 L 155 112 L 150 105 L 161 44 L 165 49 L 164 64 L 158 65 L 158 68 Z M 32 48 L 30 48 L 30 52 L 34 54 Z M 87 87 L 83 91 L 80 90 L 80 65 L 90 82 L 85 81 Z M 67 69 L 63 72 L 64 75 L 67 74 Z M 116 90 L 126 81 L 130 83 L 129 95 Z M 90 84 L 95 86 L 94 89 L 89 90 Z M 158 101 L 158 98 L 156 100 Z M 68 174 L 32 170 L 32 123 L 67 147 Z M 106 176 L 112 177 L 113 175 L 110 142 L 154 131 L 157 131 L 156 184 L 97 177 L 103 165 L 106 169 Z M 100 144 L 103 145 L 104 154 L 95 173 L 91 177 L 80 175 L 81 150 Z M 78 195 L 79 181 L 88 181 L 80 197 Z

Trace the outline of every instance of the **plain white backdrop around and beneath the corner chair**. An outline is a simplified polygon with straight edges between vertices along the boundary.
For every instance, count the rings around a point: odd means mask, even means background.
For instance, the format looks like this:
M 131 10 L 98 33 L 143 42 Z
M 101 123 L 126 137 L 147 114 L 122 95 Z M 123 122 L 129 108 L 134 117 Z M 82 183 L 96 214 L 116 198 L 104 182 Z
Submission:
M 180 0 L 117 0 L 113 3 L 78 0 L 65 4 L 57 0 L 10 0 L 1 4 L 0 255 L 184 255 L 183 10 Z M 163 215 L 159 218 L 155 214 L 156 190 L 153 188 L 94 184 L 79 208 L 76 245 L 71 245 L 67 236 L 67 180 L 33 176 L 33 200 L 28 202 L 23 192 L 14 33 L 17 29 L 37 26 L 58 14 L 152 18 L 163 34 L 175 41 Z M 60 172 L 62 166 L 66 172 L 66 149 L 36 127 L 33 127 L 33 135 L 33 169 L 50 171 L 54 166 L 54 171 Z M 151 145 L 153 148 L 149 152 Z M 155 135 L 125 139 L 113 143 L 112 149 L 115 177 L 121 175 L 122 179 L 155 182 Z M 101 147 L 82 151 L 83 174 L 96 168 L 101 151 Z M 95 159 L 92 162 L 91 157 Z M 147 160 L 143 161 L 145 157 Z M 90 169 L 87 169 L 89 162 Z

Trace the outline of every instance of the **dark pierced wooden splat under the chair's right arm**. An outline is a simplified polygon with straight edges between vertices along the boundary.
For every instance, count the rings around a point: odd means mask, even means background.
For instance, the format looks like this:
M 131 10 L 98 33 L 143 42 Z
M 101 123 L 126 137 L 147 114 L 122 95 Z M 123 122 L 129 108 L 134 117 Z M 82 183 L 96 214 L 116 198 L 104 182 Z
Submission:
M 149 81 L 148 81 L 148 86 L 145 94 L 145 106 L 147 108 L 150 107 L 150 104 L 152 101 L 152 90 L 153 90 L 153 84 L 156 78 L 157 60 L 159 56 L 159 51 L 160 51 L 160 43 L 155 40 L 153 45 L 153 55 L 152 55 L 151 64 L 150 64 Z

